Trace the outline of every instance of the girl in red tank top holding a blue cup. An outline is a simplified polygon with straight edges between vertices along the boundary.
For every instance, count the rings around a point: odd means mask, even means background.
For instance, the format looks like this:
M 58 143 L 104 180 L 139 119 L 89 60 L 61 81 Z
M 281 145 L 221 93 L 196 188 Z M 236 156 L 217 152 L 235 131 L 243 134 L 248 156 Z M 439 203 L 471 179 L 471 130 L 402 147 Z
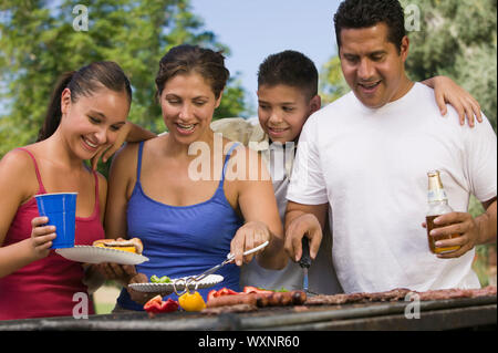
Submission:
M 113 62 L 68 73 L 58 83 L 38 142 L 1 159 L 0 320 L 71 316 L 83 303 L 75 295 L 87 293 L 83 266 L 49 249 L 56 230 L 45 226 L 33 196 L 77 191 L 75 245 L 105 238 L 106 181 L 84 160 L 114 143 L 120 131 L 129 132 L 122 127 L 131 101 L 129 82 Z

